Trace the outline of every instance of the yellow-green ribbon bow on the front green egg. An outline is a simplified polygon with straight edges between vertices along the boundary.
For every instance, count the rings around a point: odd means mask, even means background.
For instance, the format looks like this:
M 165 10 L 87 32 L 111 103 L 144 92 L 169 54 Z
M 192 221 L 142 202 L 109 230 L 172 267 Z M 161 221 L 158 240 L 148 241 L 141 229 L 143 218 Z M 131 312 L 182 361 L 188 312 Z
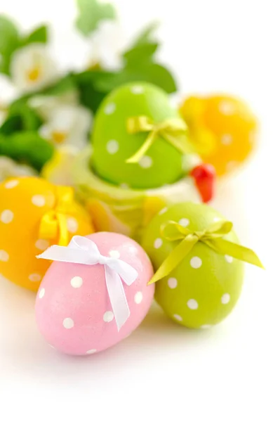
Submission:
M 190 231 L 187 227 L 183 227 L 173 221 L 163 224 L 161 226 L 161 235 L 168 241 L 181 242 L 175 246 L 170 255 L 164 260 L 148 284 L 156 283 L 156 281 L 168 276 L 189 254 L 197 242 L 204 243 L 220 255 L 229 255 L 236 258 L 236 260 L 263 268 L 262 263 L 253 250 L 222 238 L 231 230 L 231 222 L 217 222 L 211 224 L 208 229 L 203 231 Z

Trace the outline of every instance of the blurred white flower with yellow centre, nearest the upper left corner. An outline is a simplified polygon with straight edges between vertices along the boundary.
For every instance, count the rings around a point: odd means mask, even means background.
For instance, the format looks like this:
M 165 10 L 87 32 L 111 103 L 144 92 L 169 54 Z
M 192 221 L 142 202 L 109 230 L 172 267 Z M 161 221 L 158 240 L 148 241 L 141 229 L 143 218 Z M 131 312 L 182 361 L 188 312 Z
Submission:
M 11 79 L 21 92 L 48 87 L 58 78 L 58 68 L 44 44 L 29 44 L 13 53 Z

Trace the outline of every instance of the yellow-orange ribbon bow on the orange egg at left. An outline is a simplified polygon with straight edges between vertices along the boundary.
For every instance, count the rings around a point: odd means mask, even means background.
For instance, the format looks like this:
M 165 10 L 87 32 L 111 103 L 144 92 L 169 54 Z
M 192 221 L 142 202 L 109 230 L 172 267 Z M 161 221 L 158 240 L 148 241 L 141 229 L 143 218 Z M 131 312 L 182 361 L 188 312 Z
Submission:
M 74 191 L 65 186 L 56 186 L 57 202 L 53 210 L 43 215 L 39 227 L 39 237 L 55 239 L 58 236 L 58 245 L 67 246 L 69 233 L 67 229 L 67 215 L 74 212 Z

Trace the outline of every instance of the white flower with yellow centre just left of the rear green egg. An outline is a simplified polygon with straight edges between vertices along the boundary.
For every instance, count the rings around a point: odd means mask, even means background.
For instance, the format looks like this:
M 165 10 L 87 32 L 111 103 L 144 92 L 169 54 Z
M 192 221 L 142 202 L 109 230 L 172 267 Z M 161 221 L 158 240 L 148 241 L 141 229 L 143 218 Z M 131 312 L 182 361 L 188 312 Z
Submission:
M 39 133 L 55 146 L 74 146 L 81 150 L 86 146 L 93 117 L 82 106 L 54 108 L 50 119 L 40 127 Z

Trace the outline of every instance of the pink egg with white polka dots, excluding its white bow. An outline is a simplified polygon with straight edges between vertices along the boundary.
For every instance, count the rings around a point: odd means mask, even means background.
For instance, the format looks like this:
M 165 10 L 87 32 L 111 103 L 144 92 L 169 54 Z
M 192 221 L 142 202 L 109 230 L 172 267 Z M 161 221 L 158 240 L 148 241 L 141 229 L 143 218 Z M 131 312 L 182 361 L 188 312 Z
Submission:
M 130 316 L 118 329 L 104 264 L 51 264 L 36 297 L 36 321 L 47 343 L 66 354 L 93 354 L 119 343 L 144 319 L 154 297 L 154 286 L 147 286 L 152 264 L 138 243 L 109 232 L 86 238 L 103 257 L 133 267 L 137 278 L 130 286 L 121 280 Z

